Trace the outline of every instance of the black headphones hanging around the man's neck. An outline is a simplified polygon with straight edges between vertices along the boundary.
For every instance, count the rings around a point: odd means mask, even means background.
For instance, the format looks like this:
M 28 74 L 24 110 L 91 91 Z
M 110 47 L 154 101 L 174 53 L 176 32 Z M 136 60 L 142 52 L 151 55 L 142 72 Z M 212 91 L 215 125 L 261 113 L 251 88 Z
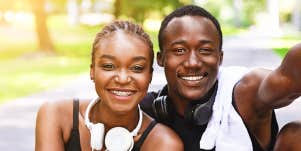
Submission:
M 198 101 L 189 102 L 184 112 L 184 119 L 196 125 L 205 125 L 209 122 L 217 92 L 217 85 L 218 81 L 215 82 L 203 98 Z M 162 123 L 171 122 L 173 120 L 173 112 L 175 112 L 172 101 L 167 96 L 167 91 L 167 86 L 164 86 L 152 104 L 156 120 Z

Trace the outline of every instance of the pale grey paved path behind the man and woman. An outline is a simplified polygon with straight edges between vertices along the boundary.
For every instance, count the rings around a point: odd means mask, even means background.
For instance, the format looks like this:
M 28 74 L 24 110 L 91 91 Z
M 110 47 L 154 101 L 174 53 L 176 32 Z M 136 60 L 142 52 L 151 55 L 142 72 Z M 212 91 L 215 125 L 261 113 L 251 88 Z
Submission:
M 277 67 L 281 59 L 268 47 L 267 37 L 256 34 L 231 37 L 225 40 L 223 66 L 243 65 L 247 67 Z M 162 68 L 155 66 L 154 78 L 150 90 L 157 90 L 165 83 Z M 93 83 L 88 73 L 79 76 L 66 86 L 20 98 L 0 106 L 0 150 L 34 150 L 34 128 L 38 107 L 46 100 L 62 98 L 91 98 L 95 96 Z M 299 99 L 300 100 L 300 99 Z M 285 122 L 298 119 L 301 115 L 301 100 L 285 109 L 277 110 L 280 126 Z

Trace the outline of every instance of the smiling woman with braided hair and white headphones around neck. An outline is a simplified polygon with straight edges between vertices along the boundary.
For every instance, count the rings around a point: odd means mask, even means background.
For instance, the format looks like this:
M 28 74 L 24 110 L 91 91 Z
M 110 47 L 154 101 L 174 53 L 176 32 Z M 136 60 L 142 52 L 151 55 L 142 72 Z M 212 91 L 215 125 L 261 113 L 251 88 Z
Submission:
M 152 63 L 152 42 L 140 26 L 127 21 L 105 26 L 94 40 L 90 66 L 99 97 L 43 104 L 36 150 L 183 150 L 180 138 L 138 105 L 151 82 Z

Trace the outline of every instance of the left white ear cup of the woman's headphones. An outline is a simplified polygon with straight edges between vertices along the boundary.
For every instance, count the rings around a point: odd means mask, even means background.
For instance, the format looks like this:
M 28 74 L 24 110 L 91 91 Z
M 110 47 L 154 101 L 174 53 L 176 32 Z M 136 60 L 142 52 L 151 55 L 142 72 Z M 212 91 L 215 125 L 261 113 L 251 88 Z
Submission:
M 103 146 L 105 127 L 102 123 L 92 124 L 90 128 L 91 147 L 92 149 L 101 150 Z

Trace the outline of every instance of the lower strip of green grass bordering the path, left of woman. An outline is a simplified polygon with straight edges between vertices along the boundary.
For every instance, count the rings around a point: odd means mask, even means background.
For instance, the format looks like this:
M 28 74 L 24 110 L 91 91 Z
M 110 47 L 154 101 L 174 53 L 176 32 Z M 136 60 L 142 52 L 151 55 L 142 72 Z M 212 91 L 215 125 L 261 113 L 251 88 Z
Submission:
M 1 102 L 32 94 L 70 81 L 87 71 L 86 58 L 43 57 L 0 63 Z

